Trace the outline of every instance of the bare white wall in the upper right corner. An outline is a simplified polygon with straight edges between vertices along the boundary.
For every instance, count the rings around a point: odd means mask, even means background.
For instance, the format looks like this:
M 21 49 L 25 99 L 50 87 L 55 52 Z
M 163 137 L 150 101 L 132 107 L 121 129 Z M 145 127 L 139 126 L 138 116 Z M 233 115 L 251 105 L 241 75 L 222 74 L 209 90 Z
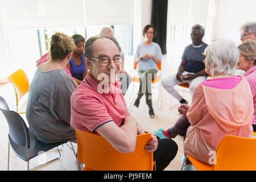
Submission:
M 240 44 L 240 27 L 256 22 L 255 0 L 218 0 L 215 39 L 229 39 Z

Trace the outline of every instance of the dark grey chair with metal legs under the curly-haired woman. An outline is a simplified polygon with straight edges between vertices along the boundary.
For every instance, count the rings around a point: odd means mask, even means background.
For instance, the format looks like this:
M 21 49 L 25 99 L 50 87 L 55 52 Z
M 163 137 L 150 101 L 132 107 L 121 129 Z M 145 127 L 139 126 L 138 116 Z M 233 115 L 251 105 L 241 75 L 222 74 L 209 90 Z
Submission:
M 32 170 L 43 166 L 44 164 L 51 162 L 52 160 L 59 159 L 61 157 L 59 148 L 59 156 L 39 164 L 38 166 L 30 169 L 30 159 L 35 158 L 36 156 L 43 154 L 44 152 L 51 150 L 52 148 L 58 147 L 61 144 L 67 142 L 51 143 L 46 144 L 40 142 L 35 135 L 30 131 L 24 122 L 23 118 L 20 117 L 15 111 L 10 111 L 6 101 L 0 96 L 0 110 L 5 116 L 7 123 L 9 125 L 9 143 L 8 143 L 8 167 L 9 170 L 9 158 L 10 158 L 10 146 L 13 148 L 13 151 L 20 159 L 23 159 L 27 162 L 27 170 Z M 72 143 L 71 143 L 72 144 Z M 73 148 L 73 146 L 72 146 Z

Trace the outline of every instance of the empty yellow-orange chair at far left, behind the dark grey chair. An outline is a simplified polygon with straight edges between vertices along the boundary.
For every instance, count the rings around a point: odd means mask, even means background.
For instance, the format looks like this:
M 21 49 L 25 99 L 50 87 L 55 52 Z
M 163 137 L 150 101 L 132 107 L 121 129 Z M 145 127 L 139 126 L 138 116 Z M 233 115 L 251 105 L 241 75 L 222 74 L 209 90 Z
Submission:
M 11 82 L 11 84 L 13 84 L 15 90 L 16 112 L 18 114 L 23 114 L 25 113 L 24 111 L 18 112 L 18 104 L 19 100 L 24 96 L 24 94 L 28 92 L 28 88 L 30 86 L 27 75 L 22 69 L 19 69 L 18 71 L 10 75 L 7 79 Z M 25 102 L 20 108 L 26 108 L 26 104 L 27 103 Z

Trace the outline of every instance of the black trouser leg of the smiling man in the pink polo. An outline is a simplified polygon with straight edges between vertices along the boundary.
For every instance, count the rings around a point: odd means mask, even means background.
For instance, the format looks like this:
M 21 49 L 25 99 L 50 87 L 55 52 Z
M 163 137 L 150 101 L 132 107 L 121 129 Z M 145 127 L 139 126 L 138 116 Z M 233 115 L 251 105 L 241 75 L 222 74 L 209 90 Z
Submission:
M 177 154 L 177 144 L 172 139 L 158 138 L 158 148 L 153 152 L 153 159 L 156 165 L 156 171 L 163 171 Z M 155 169 L 155 167 L 154 167 Z

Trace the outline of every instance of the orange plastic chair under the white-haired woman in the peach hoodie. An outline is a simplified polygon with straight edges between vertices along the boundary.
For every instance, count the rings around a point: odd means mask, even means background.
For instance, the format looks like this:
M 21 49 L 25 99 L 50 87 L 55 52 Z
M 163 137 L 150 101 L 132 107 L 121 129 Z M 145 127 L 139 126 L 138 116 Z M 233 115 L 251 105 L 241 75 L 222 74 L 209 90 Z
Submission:
M 185 151 L 184 151 L 185 152 Z M 216 149 L 216 160 L 211 166 L 192 158 L 187 158 L 199 171 L 255 171 L 256 139 L 226 135 Z M 185 161 L 185 160 L 184 160 Z M 184 164 L 181 168 L 183 169 Z

